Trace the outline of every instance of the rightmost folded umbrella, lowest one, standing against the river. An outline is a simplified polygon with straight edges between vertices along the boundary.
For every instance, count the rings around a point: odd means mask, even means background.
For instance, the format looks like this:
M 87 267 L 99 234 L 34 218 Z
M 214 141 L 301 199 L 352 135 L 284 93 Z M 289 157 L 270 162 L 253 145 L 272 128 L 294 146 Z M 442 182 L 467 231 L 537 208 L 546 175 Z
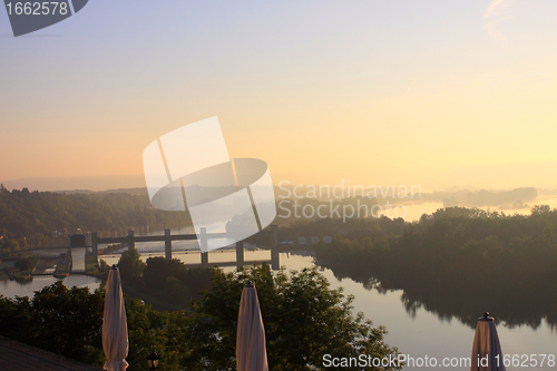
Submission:
M 499 355 L 497 358 L 497 355 Z M 506 371 L 501 344 L 497 335 L 495 322 L 489 312 L 478 319 L 472 345 L 472 364 L 470 371 Z

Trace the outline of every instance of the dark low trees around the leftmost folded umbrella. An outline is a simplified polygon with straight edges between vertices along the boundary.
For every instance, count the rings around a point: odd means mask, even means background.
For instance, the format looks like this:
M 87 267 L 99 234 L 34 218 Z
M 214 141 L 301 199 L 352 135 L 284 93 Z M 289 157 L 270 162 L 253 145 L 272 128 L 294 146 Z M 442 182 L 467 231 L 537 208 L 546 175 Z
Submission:
M 67 289 L 61 281 L 16 300 L 0 296 L 0 334 L 101 368 L 105 362 L 101 329 L 105 291 Z M 129 371 L 145 370 L 153 350 L 162 357 L 162 370 L 178 371 L 179 358 L 187 354 L 183 313 L 150 310 L 139 300 L 126 299 Z M 167 334 L 169 333 L 169 334 Z

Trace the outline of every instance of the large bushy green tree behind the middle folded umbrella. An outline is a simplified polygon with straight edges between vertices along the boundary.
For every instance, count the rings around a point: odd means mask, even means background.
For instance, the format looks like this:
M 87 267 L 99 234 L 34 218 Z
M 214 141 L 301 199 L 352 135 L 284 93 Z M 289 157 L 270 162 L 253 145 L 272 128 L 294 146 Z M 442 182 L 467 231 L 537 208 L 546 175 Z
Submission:
M 352 316 L 353 296 L 331 290 L 315 267 L 273 275 L 268 266 L 255 265 L 225 274 L 217 270 L 213 290 L 194 307 L 187 336 L 188 370 L 235 370 L 236 326 L 240 299 L 247 280 L 255 283 L 272 370 L 323 369 L 323 357 L 395 357 L 384 343 L 384 328 L 373 328 L 363 314 Z M 368 370 L 393 370 L 390 368 Z

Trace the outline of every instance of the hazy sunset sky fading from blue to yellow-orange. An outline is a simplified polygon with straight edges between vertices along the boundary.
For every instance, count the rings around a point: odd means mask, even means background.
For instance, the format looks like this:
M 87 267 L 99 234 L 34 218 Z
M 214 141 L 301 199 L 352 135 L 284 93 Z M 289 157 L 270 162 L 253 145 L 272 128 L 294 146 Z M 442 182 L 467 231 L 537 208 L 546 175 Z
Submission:
M 229 155 L 275 182 L 557 186 L 556 14 L 554 0 L 91 0 L 13 38 L 0 10 L 0 180 L 138 175 L 150 141 L 218 116 Z

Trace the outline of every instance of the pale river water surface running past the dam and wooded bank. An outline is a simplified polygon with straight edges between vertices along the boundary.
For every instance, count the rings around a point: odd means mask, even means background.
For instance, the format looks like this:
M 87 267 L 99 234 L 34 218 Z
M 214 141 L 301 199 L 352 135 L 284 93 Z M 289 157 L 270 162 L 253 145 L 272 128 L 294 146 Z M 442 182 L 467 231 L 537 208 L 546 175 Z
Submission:
M 437 207 L 437 205 L 430 205 Z M 420 206 L 420 212 L 424 211 Z M 417 215 L 418 213 L 414 213 Z M 186 233 L 189 231 L 173 231 L 175 233 Z M 155 231 L 153 234 L 162 234 L 162 231 Z M 149 256 L 163 256 L 164 243 L 143 243 L 136 244 L 136 247 L 141 253 L 141 258 L 147 260 Z M 174 250 L 177 250 L 173 256 L 185 263 L 201 262 L 198 252 L 186 252 L 185 248 L 193 247 L 192 242 L 175 242 Z M 182 250 L 182 251 L 180 251 Z M 102 258 L 108 264 L 117 263 L 119 254 L 106 255 Z M 226 262 L 235 260 L 235 251 L 215 251 L 209 253 L 209 262 Z M 268 251 L 246 250 L 246 261 L 270 260 Z M 312 266 L 313 257 L 294 255 L 292 253 L 280 254 L 281 266 L 286 270 L 301 270 L 305 266 Z M 233 270 L 232 267 L 225 269 Z M 375 290 L 367 290 L 361 283 L 354 282 L 351 279 L 336 280 L 333 272 L 329 269 L 322 270 L 322 273 L 331 282 L 332 287 L 344 287 L 344 294 L 355 296 L 353 305 L 354 312 L 363 312 L 367 319 L 373 321 L 374 325 L 384 325 L 389 331 L 387 342 L 398 346 L 399 351 L 414 358 L 416 362 L 419 359 L 436 358 L 438 367 L 443 358 L 469 358 L 473 341 L 473 329 L 461 323 L 457 319 L 447 320 L 437 316 L 434 313 L 418 307 L 413 312 L 407 312 L 402 303 L 402 291 L 391 291 L 379 293 Z M 53 277 L 36 277 L 32 282 L 20 284 L 14 281 L 9 281 L 2 273 L 0 275 L 0 293 L 4 296 L 14 297 L 16 295 L 32 295 L 33 291 L 40 290 L 45 285 L 49 285 L 57 281 Z M 70 275 L 63 280 L 67 286 L 88 286 L 96 289 L 99 286 L 99 281 L 84 275 Z M 488 290 L 486 287 L 479 290 Z M 481 313 L 472 313 L 478 316 Z M 491 313 L 497 318 L 497 313 Z M 527 319 L 525 319 L 527 322 Z M 543 320 L 541 324 L 534 329 L 530 325 L 520 325 L 510 328 L 504 322 L 497 323 L 499 339 L 501 342 L 502 352 L 505 354 L 519 357 L 528 357 L 531 354 L 546 354 L 555 357 L 557 353 L 557 334 L 551 326 Z M 524 358 L 522 358 L 524 359 Z M 536 355 L 538 362 L 540 355 Z M 424 367 L 407 368 L 407 370 L 424 370 Z M 444 368 L 441 368 L 444 369 Z M 469 370 L 469 367 L 450 367 L 451 370 Z M 521 370 L 522 367 L 509 367 L 507 370 Z M 547 364 L 545 360 L 544 367 L 528 368 L 535 370 L 555 370 L 554 367 Z

